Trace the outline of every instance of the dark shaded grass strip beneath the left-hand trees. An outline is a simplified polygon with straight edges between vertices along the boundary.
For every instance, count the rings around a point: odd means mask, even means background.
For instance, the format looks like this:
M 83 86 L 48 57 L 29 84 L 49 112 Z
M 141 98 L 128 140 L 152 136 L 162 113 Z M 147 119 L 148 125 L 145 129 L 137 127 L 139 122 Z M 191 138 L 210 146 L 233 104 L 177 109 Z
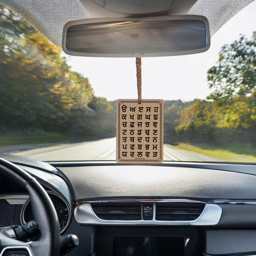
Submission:
M 62 134 L 46 134 L 33 137 L 0 137 L 0 146 L 13 146 L 24 144 L 56 143 L 69 141 L 68 136 Z

